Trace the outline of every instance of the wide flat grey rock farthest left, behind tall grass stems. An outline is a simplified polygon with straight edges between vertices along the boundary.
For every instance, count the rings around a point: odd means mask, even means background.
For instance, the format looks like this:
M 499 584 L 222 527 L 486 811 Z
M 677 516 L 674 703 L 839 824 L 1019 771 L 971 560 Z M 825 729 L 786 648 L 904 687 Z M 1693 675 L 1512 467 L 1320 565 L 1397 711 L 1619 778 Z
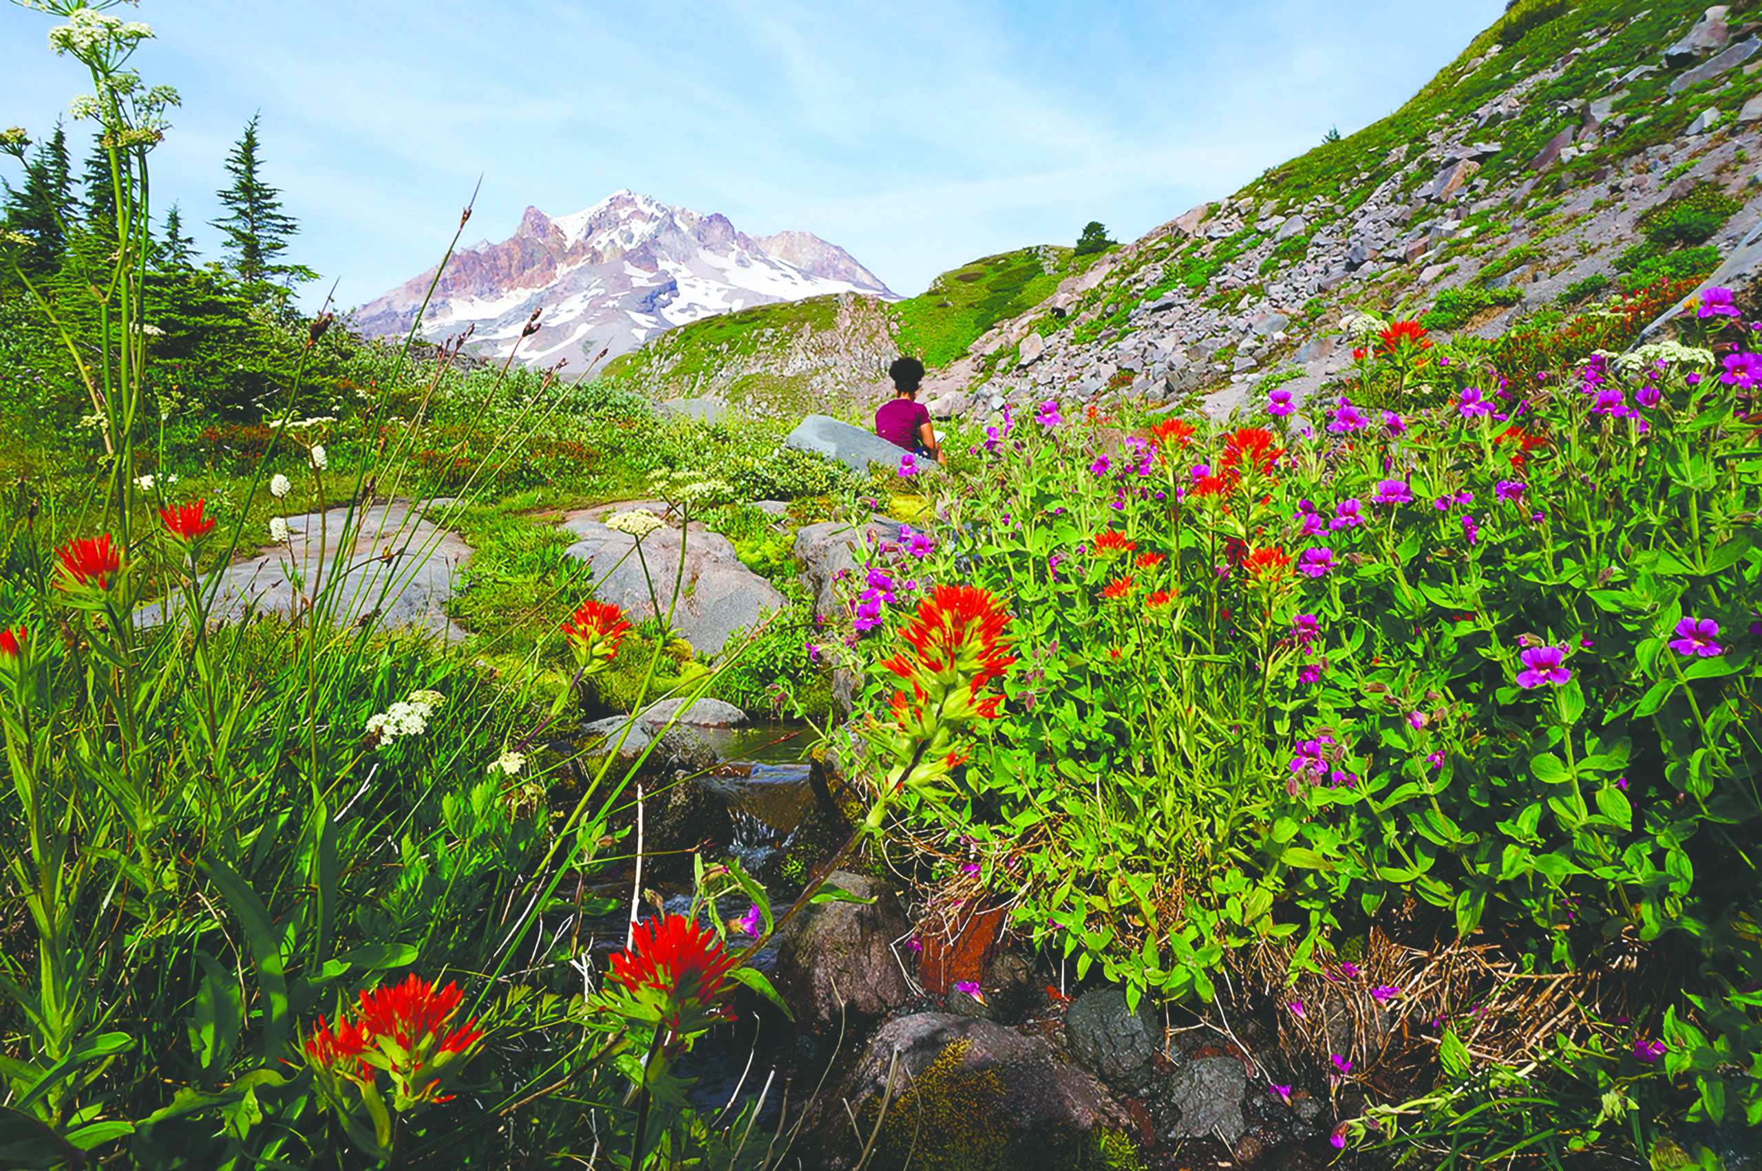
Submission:
M 470 546 L 421 519 L 409 500 L 370 505 L 354 521 L 347 507 L 289 516 L 287 530 L 285 546 L 220 571 L 215 618 L 294 615 L 324 593 L 338 625 L 374 615 L 379 627 L 414 625 L 449 641 L 467 637 L 448 618 L 446 604 Z M 139 620 L 152 625 L 160 613 L 155 602 L 141 608 Z

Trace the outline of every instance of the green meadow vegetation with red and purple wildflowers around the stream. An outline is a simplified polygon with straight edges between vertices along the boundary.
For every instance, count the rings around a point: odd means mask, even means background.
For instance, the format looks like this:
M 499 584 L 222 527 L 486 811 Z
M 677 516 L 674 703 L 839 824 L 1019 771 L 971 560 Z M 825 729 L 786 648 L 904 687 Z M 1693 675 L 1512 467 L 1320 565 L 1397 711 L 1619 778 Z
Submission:
M 685 1060 L 731 1014 L 788 1016 L 749 960 L 840 895 L 692 854 L 685 914 L 610 956 L 583 940 L 647 914 L 657 782 L 580 725 L 668 696 L 839 747 L 855 799 L 821 872 L 904 875 L 916 907 L 996 895 L 1073 990 L 1253 1020 L 1295 1079 L 1256 1094 L 1325 1102 L 1311 1153 L 1713 1167 L 1714 1127 L 1762 1125 L 1762 352 L 1725 291 L 1628 352 L 1707 271 L 1714 194 L 1649 218 L 1616 287 L 1499 338 L 1429 336 L 1501 299 L 1482 285 L 1360 322 L 1304 414 L 1274 380 L 1228 421 L 1047 400 L 951 428 L 946 472 L 858 479 L 779 449 L 777 421 L 670 421 L 631 391 L 657 354 L 708 375 L 837 299 L 696 322 L 578 384 L 363 343 L 296 308 L 257 122 L 203 261 L 150 201 L 176 104 L 130 63 L 150 30 L 32 7 L 92 74 L 95 148 L 76 174 L 83 134 L 4 137 L 0 1160 L 789 1166 L 763 1095 L 698 1109 Z M 1593 21 L 1688 11 L 1642 9 L 1519 0 L 1462 60 L 1505 46 L 1494 93 Z M 1364 158 L 1452 113 L 1436 95 L 1260 192 L 1350 199 Z M 1625 134 L 1679 113 L 1647 109 Z M 1489 166 L 1545 132 L 1512 127 Z M 1091 227 L 885 306 L 892 338 L 957 359 L 1105 257 Z M 1161 291 L 1253 238 L 1166 248 Z M 596 599 L 559 519 L 657 495 L 789 609 L 703 659 Z M 358 532 L 386 500 L 472 546 L 467 641 L 351 609 L 337 567 L 287 613 L 224 616 L 217 571 L 289 518 Z M 909 525 L 816 622 L 795 532 L 876 512 Z M 885 1123 L 886 1157 L 909 1150 Z

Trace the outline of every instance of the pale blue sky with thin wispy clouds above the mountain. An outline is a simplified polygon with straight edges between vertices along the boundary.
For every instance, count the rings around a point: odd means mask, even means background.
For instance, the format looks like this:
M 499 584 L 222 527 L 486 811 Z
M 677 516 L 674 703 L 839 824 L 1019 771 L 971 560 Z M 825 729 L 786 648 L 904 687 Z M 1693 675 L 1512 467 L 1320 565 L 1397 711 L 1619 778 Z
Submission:
M 153 153 L 217 254 L 224 158 L 261 111 L 291 259 L 359 305 L 467 241 L 620 187 L 816 232 L 892 289 L 964 261 L 1129 239 L 1404 102 L 1503 0 L 144 0 L 183 95 Z M 0 127 L 90 90 L 53 18 L 0 5 Z M 78 160 L 76 160 L 78 162 Z M 4 160 L 9 180 L 18 178 Z M 310 298 L 308 298 L 310 299 Z

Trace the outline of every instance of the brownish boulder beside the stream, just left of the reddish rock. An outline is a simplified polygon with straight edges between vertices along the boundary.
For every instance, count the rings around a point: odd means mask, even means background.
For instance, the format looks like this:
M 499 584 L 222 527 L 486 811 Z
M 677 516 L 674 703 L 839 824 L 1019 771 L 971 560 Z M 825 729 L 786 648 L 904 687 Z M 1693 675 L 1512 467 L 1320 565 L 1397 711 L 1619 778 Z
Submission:
M 862 1028 L 911 998 L 893 942 L 911 933 L 879 879 L 833 870 L 828 882 L 872 903 L 809 903 L 777 935 L 772 981 L 807 1032 Z

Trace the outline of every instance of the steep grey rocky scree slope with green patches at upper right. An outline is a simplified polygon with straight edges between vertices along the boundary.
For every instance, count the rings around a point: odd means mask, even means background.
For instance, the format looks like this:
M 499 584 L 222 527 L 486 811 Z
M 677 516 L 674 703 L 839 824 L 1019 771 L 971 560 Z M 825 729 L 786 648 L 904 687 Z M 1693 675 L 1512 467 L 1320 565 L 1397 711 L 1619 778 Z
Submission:
M 1200 204 L 978 338 L 943 417 L 1045 398 L 1226 414 L 1343 373 L 1360 313 L 1503 333 L 1762 224 L 1762 23 L 1746 5 L 1514 5 L 1390 118 Z M 1686 225 L 1662 232 L 1658 224 Z M 1697 236 L 1707 232 L 1695 243 Z

